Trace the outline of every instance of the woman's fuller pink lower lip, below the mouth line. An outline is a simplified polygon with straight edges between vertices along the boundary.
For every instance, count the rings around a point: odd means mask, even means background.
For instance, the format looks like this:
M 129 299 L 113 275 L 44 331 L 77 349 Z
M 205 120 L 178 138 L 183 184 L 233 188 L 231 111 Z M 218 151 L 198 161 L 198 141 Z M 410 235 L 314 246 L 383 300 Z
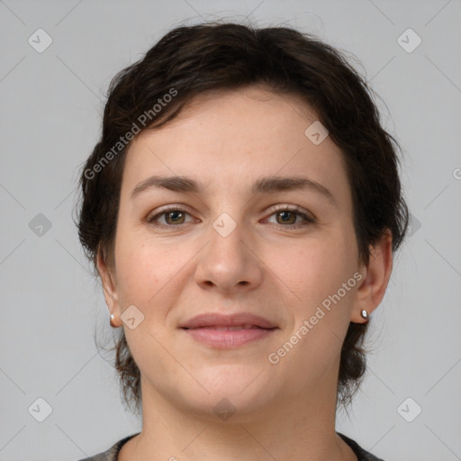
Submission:
M 185 330 L 185 329 L 184 329 Z M 266 330 L 252 328 L 249 330 L 212 330 L 210 328 L 195 328 L 185 330 L 196 341 L 212 348 L 239 348 L 244 344 L 267 338 L 275 329 Z

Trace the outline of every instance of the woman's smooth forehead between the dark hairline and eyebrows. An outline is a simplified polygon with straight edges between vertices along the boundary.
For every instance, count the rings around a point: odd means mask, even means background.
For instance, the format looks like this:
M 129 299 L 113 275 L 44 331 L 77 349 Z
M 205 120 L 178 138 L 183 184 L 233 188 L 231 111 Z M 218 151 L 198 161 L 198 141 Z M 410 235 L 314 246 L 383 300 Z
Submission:
M 173 121 L 131 142 L 122 194 L 151 175 L 194 177 L 212 192 L 302 174 L 344 195 L 342 153 L 328 136 L 317 145 L 306 136 L 314 122 L 316 113 L 296 95 L 258 87 L 199 95 Z

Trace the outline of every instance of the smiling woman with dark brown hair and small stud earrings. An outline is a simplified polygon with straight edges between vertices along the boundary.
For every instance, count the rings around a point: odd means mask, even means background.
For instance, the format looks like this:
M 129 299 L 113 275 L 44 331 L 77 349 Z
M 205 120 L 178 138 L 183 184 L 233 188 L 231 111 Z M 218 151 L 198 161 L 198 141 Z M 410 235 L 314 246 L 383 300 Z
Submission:
M 396 148 L 288 28 L 180 27 L 114 77 L 78 229 L 142 430 L 87 460 L 379 459 L 335 416 L 407 227 Z

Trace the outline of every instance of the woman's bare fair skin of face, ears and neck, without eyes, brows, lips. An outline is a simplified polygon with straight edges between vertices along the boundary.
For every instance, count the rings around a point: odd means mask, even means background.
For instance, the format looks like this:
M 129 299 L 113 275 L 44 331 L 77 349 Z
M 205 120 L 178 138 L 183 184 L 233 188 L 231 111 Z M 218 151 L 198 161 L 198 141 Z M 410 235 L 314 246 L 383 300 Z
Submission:
M 304 135 L 315 120 L 299 98 L 254 86 L 201 95 L 132 141 L 113 264 L 97 259 L 141 374 L 142 432 L 119 460 L 357 460 L 335 432 L 340 348 L 349 322 L 363 322 L 361 310 L 370 314 L 384 296 L 392 240 L 371 249 L 368 266 L 359 261 L 343 159 L 330 137 L 314 145 Z M 131 200 L 152 175 L 188 176 L 205 188 L 152 188 Z M 334 203 L 309 189 L 250 194 L 262 176 L 308 177 Z M 164 227 L 154 227 L 148 219 L 168 204 L 186 214 L 160 215 Z M 298 205 L 315 222 L 294 214 L 285 223 L 276 204 Z M 212 227 L 223 212 L 236 223 L 227 237 Z M 271 364 L 268 355 L 354 273 L 360 282 Z M 133 330 L 121 320 L 130 305 L 144 315 Z M 178 328 L 204 312 L 252 312 L 278 330 L 240 348 L 210 348 Z M 235 409 L 228 420 L 213 411 L 223 398 Z

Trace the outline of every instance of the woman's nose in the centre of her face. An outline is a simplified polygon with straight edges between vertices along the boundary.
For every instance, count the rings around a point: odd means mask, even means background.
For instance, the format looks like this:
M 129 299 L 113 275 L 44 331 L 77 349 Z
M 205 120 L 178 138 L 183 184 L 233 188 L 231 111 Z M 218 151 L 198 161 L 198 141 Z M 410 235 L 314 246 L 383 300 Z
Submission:
M 219 227 L 216 229 L 210 227 L 209 242 L 199 253 L 196 283 L 203 289 L 225 294 L 258 288 L 262 283 L 264 264 L 258 257 L 255 241 L 244 232 L 243 224 L 237 224 L 228 235 L 220 233 Z

